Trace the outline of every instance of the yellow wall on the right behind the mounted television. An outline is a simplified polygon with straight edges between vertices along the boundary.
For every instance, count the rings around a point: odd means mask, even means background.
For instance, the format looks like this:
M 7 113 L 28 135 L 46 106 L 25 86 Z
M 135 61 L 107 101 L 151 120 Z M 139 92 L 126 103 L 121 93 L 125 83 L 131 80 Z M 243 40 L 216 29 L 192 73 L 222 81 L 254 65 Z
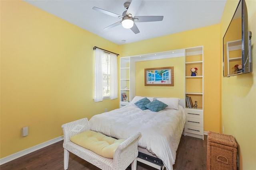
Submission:
M 226 3 L 220 23 L 221 38 L 237 5 L 238 0 L 228 0 Z M 246 0 L 246 5 L 248 26 L 252 31 L 253 72 L 222 78 L 222 126 L 224 133 L 233 135 L 238 143 L 239 169 L 254 170 L 256 167 L 256 1 Z

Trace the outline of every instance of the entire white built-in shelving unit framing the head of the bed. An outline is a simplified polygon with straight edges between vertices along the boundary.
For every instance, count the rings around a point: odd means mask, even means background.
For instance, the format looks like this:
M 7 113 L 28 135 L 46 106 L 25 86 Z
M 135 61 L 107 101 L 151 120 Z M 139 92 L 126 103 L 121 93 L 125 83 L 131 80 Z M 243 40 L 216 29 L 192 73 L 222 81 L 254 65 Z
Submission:
M 185 104 L 186 124 L 184 135 L 204 139 L 204 48 L 192 47 L 160 53 L 136 55 L 120 58 L 120 107 L 129 104 L 122 101 L 122 93 L 126 93 L 131 101 L 136 95 L 136 62 L 172 57 L 185 57 L 185 95 L 190 96 L 192 102 L 197 101 L 197 108 L 188 108 Z M 198 68 L 196 76 L 191 76 L 190 68 Z M 127 88 L 126 88 L 127 87 Z

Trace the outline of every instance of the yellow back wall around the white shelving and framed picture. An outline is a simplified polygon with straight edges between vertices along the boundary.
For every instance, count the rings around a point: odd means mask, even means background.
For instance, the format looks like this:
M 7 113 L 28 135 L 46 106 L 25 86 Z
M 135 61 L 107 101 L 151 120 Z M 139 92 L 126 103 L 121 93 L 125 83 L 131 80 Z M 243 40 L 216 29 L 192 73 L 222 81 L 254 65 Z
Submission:
M 136 43 L 120 45 L 120 56 L 134 56 L 146 53 L 156 53 L 161 51 L 197 47 L 201 45 L 204 46 L 204 131 L 211 130 L 220 132 L 220 62 L 222 59 L 220 59 L 219 24 L 166 35 L 163 37 L 157 37 L 154 39 L 139 41 Z M 175 60 L 179 62 L 177 63 L 178 66 L 184 64 L 184 59 Z M 148 61 L 147 65 L 150 64 L 150 66 L 153 68 L 161 66 L 172 66 L 172 62 L 164 64 L 156 63 L 157 66 L 154 66 L 156 65 L 154 63 L 155 61 Z M 148 67 L 146 64 L 142 64 L 141 66 L 143 68 Z M 136 68 L 138 68 L 138 66 L 136 66 Z M 174 67 L 175 81 L 180 79 L 180 83 L 183 84 L 180 85 L 178 82 L 174 83 L 175 87 L 173 88 L 177 88 L 177 86 L 184 87 L 184 77 L 179 77 L 180 73 L 177 73 L 178 70 L 175 68 L 176 67 Z M 182 74 L 184 74 L 184 70 L 182 70 Z M 142 73 L 140 73 L 140 78 L 142 78 Z M 149 87 L 145 87 L 144 83 L 142 82 L 137 84 L 136 81 L 136 95 L 148 95 L 147 92 L 149 90 L 147 89 L 149 89 Z M 167 96 L 165 91 L 162 91 L 163 89 L 170 89 L 170 91 L 168 91 L 170 92 L 170 95 L 172 95 L 171 93 L 175 91 L 170 87 L 162 86 L 151 86 L 150 89 L 154 89 L 154 91 L 160 91 L 159 95 L 156 94 L 157 96 Z M 182 92 L 184 92 L 184 89 Z M 177 93 L 177 95 L 181 96 L 182 94 Z M 184 98 L 184 94 L 182 97 Z

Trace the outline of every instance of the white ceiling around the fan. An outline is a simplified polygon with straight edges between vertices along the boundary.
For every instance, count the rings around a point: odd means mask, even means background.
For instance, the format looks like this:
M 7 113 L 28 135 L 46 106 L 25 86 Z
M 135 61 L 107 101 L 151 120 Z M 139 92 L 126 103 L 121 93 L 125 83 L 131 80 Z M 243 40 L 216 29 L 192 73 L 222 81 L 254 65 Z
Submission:
M 220 23 L 226 0 L 142 0 L 136 16 L 164 16 L 163 21 L 136 23 L 140 33 L 118 25 L 118 18 L 92 10 L 96 6 L 122 15 L 128 0 L 24 0 L 54 16 L 118 45 Z

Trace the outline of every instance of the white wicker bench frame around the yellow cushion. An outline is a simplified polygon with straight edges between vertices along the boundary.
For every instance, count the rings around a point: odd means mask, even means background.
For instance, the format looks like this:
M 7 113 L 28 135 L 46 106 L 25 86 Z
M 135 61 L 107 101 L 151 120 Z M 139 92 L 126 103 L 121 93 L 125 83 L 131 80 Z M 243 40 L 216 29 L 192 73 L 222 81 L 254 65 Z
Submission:
M 137 168 L 138 156 L 138 139 L 141 135 L 140 132 L 132 135 L 124 142 L 122 142 L 114 153 L 114 158 L 105 158 L 91 150 L 80 147 L 70 141 L 70 137 L 90 130 L 88 119 L 79 119 L 62 125 L 64 132 L 64 170 L 68 169 L 69 152 L 79 156 L 80 158 L 90 162 L 102 170 L 125 170 L 130 164 L 132 170 Z

